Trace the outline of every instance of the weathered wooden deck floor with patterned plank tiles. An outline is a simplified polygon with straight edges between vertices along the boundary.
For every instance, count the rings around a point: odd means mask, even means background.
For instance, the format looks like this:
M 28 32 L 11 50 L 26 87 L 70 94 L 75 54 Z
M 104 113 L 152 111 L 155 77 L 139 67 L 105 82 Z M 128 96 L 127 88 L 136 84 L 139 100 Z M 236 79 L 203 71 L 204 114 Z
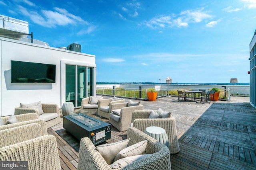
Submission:
M 176 118 L 180 152 L 171 154 L 173 170 L 256 170 L 256 109 L 249 104 L 248 98 L 232 97 L 230 102 L 204 104 L 164 97 L 140 103 L 144 109 L 169 110 Z M 62 127 L 62 123 L 49 128 L 48 133 L 57 139 L 62 169 L 76 170 L 79 141 Z M 107 142 L 126 137 L 126 131 L 120 133 L 112 127 L 111 139 Z

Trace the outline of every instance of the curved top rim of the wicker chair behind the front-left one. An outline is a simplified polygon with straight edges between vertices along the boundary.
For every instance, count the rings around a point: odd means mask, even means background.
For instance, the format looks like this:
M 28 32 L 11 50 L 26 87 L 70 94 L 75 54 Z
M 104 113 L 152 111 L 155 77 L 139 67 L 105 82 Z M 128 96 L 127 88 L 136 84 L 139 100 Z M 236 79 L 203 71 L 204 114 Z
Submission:
M 13 127 L 19 127 L 22 125 L 28 125 L 31 123 L 38 123 L 41 126 L 42 129 L 42 135 L 47 135 L 47 129 L 46 129 L 46 122 L 44 119 L 34 119 L 34 120 L 29 120 L 29 121 L 22 121 L 22 122 L 18 122 L 18 123 L 12 123 L 12 124 L 8 124 L 8 125 L 3 125 L 0 126 L 0 130 L 4 130 L 4 129 L 10 129 Z

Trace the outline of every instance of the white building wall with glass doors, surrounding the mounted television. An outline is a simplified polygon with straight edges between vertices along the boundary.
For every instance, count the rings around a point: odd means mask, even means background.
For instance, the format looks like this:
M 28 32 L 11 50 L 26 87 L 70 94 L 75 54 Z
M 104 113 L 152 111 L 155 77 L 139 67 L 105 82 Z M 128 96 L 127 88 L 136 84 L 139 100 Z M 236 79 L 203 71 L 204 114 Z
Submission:
M 11 83 L 11 60 L 56 64 L 56 83 Z M 20 103 L 58 104 L 96 95 L 95 56 L 0 37 L 0 116 Z M 22 71 L 22 70 L 21 70 Z

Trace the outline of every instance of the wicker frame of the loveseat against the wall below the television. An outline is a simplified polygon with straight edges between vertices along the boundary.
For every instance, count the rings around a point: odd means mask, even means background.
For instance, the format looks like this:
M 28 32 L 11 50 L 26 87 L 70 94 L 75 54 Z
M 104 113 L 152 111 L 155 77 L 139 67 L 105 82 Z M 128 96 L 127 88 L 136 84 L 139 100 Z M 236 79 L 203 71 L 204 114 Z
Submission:
M 57 115 L 58 115 L 56 118 L 46 121 L 47 129 L 60 123 L 60 109 L 57 104 L 42 104 L 42 109 L 44 111 L 44 114 L 57 113 Z M 20 115 L 20 114 L 24 114 L 24 113 L 37 113 L 39 115 L 38 109 L 26 108 L 26 107 L 16 107 L 14 110 L 14 115 Z M 41 117 L 41 115 L 39 116 L 39 118 L 40 117 Z

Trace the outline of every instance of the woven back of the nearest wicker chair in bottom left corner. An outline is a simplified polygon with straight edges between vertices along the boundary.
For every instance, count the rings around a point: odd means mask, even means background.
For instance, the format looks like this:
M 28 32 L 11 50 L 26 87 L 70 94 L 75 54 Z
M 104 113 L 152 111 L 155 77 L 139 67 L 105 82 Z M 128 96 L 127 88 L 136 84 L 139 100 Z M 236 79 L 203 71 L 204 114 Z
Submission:
M 28 169 L 60 170 L 56 139 L 52 135 L 37 137 L 0 148 L 0 160 L 28 161 Z

